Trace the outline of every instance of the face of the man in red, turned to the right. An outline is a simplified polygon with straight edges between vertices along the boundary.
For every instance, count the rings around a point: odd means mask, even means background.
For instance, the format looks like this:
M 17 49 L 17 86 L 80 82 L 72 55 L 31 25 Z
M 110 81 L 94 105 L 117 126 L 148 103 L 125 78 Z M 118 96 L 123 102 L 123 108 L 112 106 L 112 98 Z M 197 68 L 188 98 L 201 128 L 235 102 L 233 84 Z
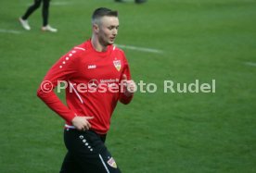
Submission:
M 113 44 L 118 34 L 119 19 L 117 17 L 103 17 L 98 25 L 98 40 L 102 45 Z

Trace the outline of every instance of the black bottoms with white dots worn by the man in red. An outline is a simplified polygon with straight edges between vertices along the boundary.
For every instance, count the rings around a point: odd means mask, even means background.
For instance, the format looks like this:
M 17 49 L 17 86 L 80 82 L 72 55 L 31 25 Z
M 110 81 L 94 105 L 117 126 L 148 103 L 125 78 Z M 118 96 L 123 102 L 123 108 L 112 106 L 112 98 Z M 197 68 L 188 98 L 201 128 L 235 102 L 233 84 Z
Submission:
M 92 130 L 64 130 L 68 149 L 60 173 L 121 173 L 104 142 L 106 135 Z

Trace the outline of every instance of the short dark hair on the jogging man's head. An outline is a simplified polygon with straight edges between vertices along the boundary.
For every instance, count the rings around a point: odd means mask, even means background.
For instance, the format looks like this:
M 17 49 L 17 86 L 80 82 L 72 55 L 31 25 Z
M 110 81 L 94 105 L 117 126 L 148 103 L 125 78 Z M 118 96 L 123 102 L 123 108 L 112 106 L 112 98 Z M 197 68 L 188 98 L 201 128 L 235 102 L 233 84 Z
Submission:
M 102 17 L 118 17 L 118 11 L 111 10 L 107 7 L 99 7 L 93 13 L 92 23 L 95 23 L 98 19 Z

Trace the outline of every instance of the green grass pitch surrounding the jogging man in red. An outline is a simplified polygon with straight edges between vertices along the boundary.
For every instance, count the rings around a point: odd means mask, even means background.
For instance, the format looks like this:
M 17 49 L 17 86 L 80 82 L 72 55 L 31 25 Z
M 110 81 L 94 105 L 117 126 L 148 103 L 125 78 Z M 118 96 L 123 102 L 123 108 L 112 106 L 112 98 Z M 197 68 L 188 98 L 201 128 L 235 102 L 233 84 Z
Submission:
M 31 0 L 1 1 L 1 173 L 58 172 L 66 152 L 63 120 L 37 97 L 45 72 L 73 45 L 91 35 L 98 6 L 120 11 L 116 43 L 163 51 L 124 49 L 134 80 L 154 82 L 157 93 L 136 93 L 118 105 L 107 145 L 124 173 L 256 172 L 255 0 L 72 0 L 53 6 L 40 31 L 41 9 L 32 31 L 18 18 Z M 163 80 L 210 82 L 216 93 L 163 93 Z

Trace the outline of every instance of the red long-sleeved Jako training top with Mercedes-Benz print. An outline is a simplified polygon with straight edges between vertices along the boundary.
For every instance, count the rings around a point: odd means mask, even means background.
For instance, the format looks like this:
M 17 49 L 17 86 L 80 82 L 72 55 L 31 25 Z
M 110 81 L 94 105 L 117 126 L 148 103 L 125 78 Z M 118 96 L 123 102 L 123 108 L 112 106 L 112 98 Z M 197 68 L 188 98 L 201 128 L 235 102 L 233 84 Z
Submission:
M 117 102 L 129 104 L 133 98 L 123 94 L 122 74 L 127 76 L 127 80 L 131 79 L 122 50 L 109 45 L 106 52 L 97 52 L 88 40 L 60 57 L 45 75 L 37 95 L 66 120 L 66 127 L 73 128 L 73 117 L 94 117 L 89 120 L 91 130 L 105 134 Z M 54 93 L 57 86 L 57 92 L 66 88 L 67 105 Z

